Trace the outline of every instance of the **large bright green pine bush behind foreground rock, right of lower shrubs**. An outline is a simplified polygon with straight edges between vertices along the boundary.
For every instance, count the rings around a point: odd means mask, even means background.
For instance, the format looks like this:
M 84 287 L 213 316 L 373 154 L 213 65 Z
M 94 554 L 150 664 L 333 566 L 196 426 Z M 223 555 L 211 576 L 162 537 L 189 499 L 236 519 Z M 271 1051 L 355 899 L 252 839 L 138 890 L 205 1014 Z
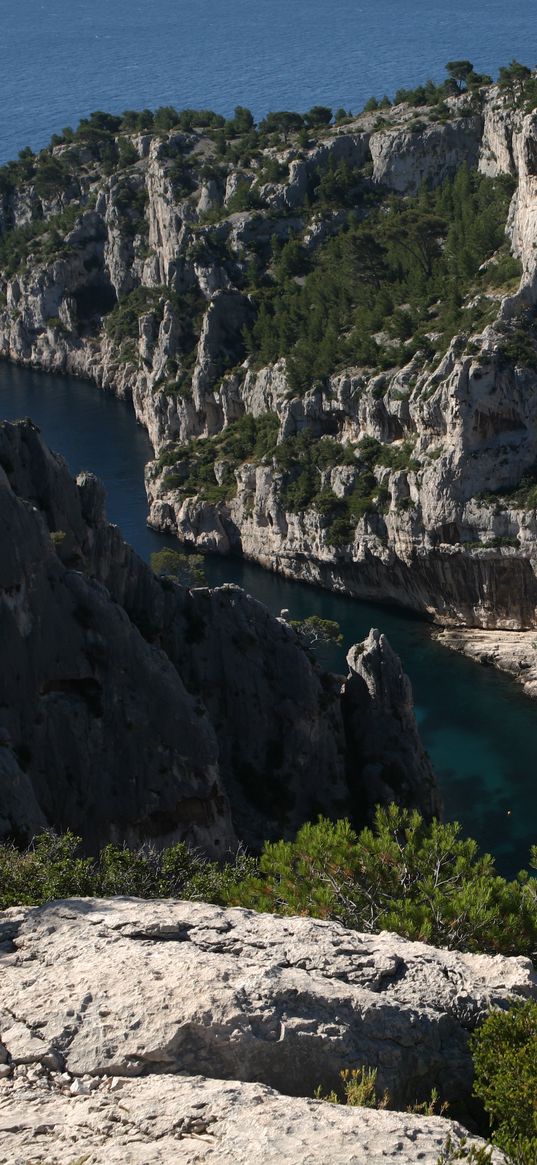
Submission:
M 437 946 L 530 954 L 537 940 L 535 882 L 528 874 L 513 882 L 500 877 L 494 859 L 459 834 L 457 822 L 426 825 L 395 805 L 377 809 L 374 828 L 360 834 L 348 821 L 322 818 L 304 825 L 295 841 L 266 843 L 259 873 L 233 901 Z

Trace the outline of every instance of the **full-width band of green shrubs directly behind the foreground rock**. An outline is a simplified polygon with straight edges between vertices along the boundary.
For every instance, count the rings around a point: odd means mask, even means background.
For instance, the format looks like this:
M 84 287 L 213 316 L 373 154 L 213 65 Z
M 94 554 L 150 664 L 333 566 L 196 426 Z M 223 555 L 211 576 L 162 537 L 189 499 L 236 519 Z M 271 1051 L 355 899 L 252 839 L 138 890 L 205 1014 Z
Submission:
M 379 809 L 374 827 L 359 834 L 348 821 L 320 819 L 295 841 L 266 843 L 259 860 L 239 852 L 225 866 L 182 843 L 162 853 L 106 846 L 96 859 L 78 856 L 78 843 L 68 833 L 42 834 L 22 852 L 1 846 L 0 908 L 70 895 L 175 895 L 458 949 L 537 949 L 537 882 L 527 873 L 507 881 L 457 824 L 425 825 L 395 805 Z

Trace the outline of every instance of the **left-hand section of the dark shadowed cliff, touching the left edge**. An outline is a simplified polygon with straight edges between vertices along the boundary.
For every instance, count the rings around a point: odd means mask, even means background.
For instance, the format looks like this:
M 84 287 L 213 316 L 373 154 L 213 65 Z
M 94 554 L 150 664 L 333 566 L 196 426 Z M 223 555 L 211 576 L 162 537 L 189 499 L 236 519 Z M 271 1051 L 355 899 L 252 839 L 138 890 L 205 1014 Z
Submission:
M 80 570 L 87 482 L 30 424 L 1 426 L 0 466 L 1 833 L 225 850 L 235 834 L 205 708 Z

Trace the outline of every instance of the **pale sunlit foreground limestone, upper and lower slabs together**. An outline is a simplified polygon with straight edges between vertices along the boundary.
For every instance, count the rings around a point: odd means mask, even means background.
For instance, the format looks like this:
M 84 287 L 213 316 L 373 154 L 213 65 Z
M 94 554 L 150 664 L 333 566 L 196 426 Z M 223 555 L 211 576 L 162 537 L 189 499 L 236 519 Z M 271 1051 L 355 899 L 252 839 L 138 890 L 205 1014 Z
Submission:
M 156 1141 L 160 1160 L 212 1146 L 218 1160 L 233 1149 L 248 1165 L 320 1165 L 333 1136 L 331 1162 L 345 1150 L 345 1160 L 436 1165 L 462 1131 L 451 1122 L 290 1097 L 338 1087 L 342 1068 L 361 1065 L 377 1068 L 393 1108 L 436 1086 L 464 1110 L 468 1032 L 490 1005 L 537 990 L 525 959 L 202 903 L 14 908 L 0 937 L 0 1128 L 13 1163 L 33 1132 L 34 1151 L 45 1149 L 65 1123 L 85 1125 L 78 1153 L 107 1160 L 121 1148 L 151 1160 Z

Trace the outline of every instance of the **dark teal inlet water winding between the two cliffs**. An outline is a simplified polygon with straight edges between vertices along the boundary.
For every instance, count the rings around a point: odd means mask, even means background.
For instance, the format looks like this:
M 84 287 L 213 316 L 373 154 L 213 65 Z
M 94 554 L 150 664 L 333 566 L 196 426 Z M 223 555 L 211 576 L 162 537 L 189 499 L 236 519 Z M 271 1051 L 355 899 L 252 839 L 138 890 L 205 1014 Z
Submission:
M 93 384 L 0 363 L 0 419 L 31 417 L 73 473 L 92 469 L 107 511 L 143 558 L 174 545 L 146 525 L 143 467 L 151 457 L 130 407 Z M 345 651 L 380 627 L 400 652 L 414 687 L 422 739 L 438 775 L 446 819 L 494 854 L 501 873 L 525 867 L 537 842 L 537 708 L 511 680 L 431 641 L 418 619 L 386 606 L 291 582 L 241 559 L 206 559 L 207 581 L 238 582 L 278 614 L 317 614 L 341 627 L 344 649 L 324 663 L 345 668 Z

